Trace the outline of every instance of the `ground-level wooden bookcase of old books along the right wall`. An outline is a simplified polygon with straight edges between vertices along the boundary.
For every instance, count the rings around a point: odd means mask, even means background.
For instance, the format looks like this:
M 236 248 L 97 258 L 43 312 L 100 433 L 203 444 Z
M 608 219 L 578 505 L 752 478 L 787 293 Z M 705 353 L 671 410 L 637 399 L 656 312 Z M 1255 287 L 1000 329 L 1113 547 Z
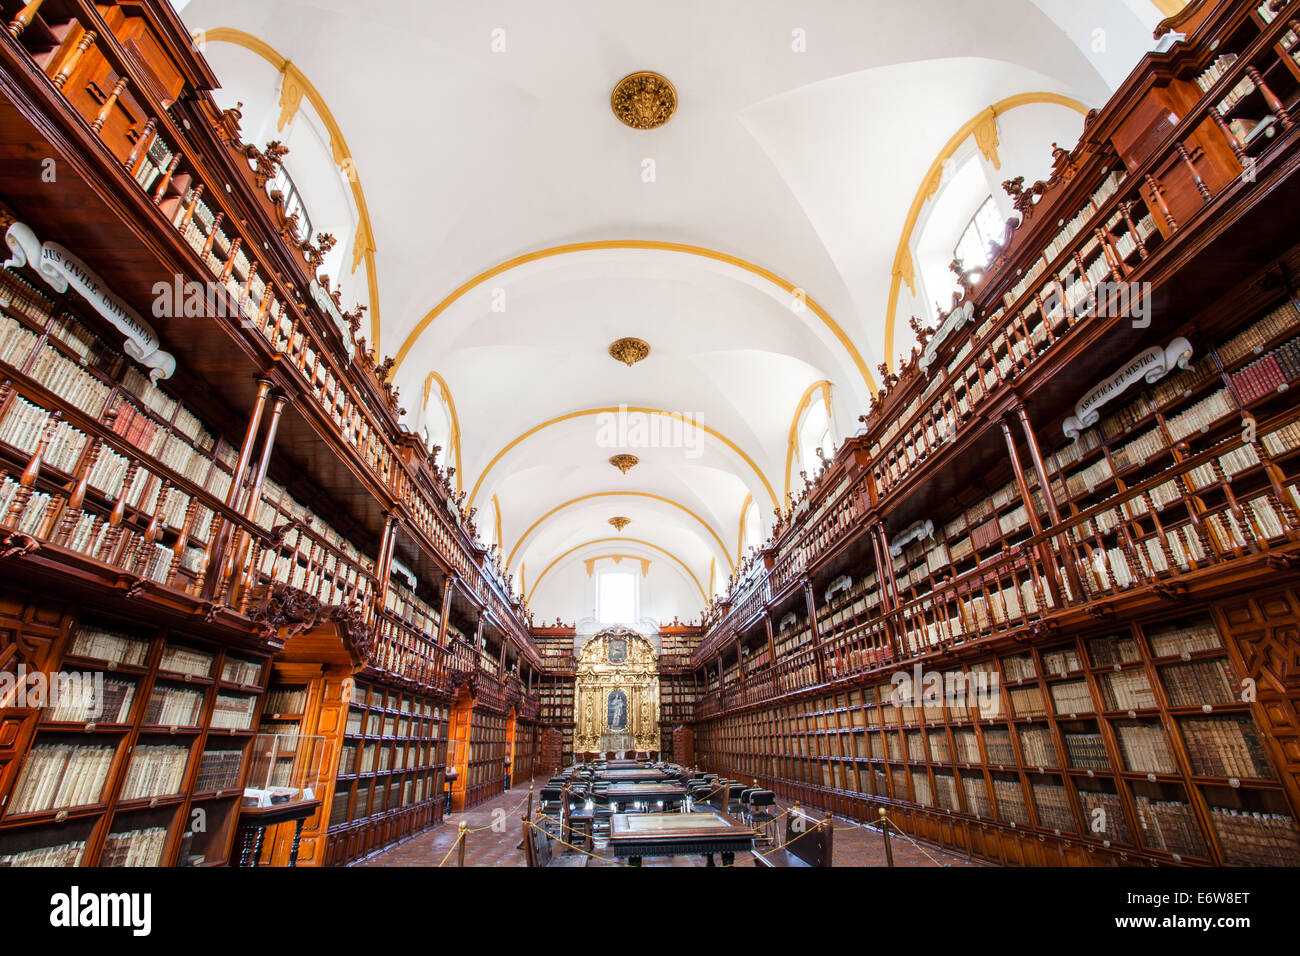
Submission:
M 1300 827 L 1236 667 L 1209 611 L 1166 615 L 972 661 L 939 700 L 883 683 L 701 723 L 696 752 L 859 816 L 870 796 L 1153 861 L 1294 865 Z

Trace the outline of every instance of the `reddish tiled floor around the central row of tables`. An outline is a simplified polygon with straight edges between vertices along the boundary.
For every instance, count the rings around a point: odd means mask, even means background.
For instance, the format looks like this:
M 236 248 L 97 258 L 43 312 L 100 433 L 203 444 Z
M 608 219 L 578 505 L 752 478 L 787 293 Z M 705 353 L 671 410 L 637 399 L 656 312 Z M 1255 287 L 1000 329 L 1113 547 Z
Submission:
M 545 783 L 540 778 L 537 786 Z M 467 813 L 458 813 L 448 821 L 416 834 L 404 843 L 381 851 L 356 866 L 455 866 L 458 853 L 452 852 L 456 832 L 462 822 L 469 825 L 465 839 L 465 866 L 524 866 L 524 851 L 519 849 L 523 840 L 523 825 L 528 800 L 528 787 L 515 787 L 507 793 L 480 804 Z M 785 809 L 785 805 L 781 805 Z M 931 844 L 913 844 L 906 838 L 894 834 L 892 838 L 896 866 L 976 866 L 979 864 L 946 849 Z M 556 852 L 572 853 L 560 845 Z M 597 848 L 597 857 L 608 853 Z M 780 856 L 779 853 L 774 857 Z M 738 861 L 749 866 L 749 860 Z M 614 866 L 612 858 L 588 858 L 588 866 Z M 701 856 L 676 858 L 647 858 L 646 866 L 703 866 Z M 835 865 L 836 866 L 884 866 L 884 838 L 876 830 L 855 826 L 846 819 L 835 819 Z

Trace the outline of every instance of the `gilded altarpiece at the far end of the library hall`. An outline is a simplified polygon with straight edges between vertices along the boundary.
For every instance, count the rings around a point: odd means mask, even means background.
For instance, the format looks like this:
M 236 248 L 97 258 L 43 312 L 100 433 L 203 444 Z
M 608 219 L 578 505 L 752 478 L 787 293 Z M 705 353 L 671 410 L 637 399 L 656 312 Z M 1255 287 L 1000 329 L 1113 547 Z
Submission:
M 659 661 L 636 631 L 610 627 L 577 659 L 573 750 L 658 750 Z

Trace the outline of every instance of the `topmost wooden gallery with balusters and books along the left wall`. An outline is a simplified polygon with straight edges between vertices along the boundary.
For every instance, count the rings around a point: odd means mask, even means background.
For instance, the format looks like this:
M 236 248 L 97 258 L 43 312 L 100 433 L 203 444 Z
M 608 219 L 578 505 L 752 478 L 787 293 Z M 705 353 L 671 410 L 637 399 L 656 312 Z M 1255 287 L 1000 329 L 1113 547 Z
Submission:
M 455 505 L 448 502 L 448 493 L 437 486 L 424 460 L 410 460 L 394 441 L 393 436 L 402 431 L 395 418 L 396 398 L 381 388 L 373 364 L 367 364 L 368 356 L 352 354 L 352 330 L 346 321 L 356 316 L 344 316 L 330 303 L 300 302 L 294 286 L 282 277 L 280 264 L 290 261 L 306 280 L 313 281 L 321 247 L 287 238 L 291 230 L 266 237 L 274 243 L 268 245 L 264 230 L 240 207 L 238 200 L 247 200 L 269 211 L 266 221 L 283 219 L 285 211 L 274 207 L 263 187 L 265 179 L 257 182 L 263 173 L 274 176 L 274 159 L 235 142 L 230 135 L 231 117 L 214 114 L 202 99 L 178 95 L 185 86 L 183 70 L 173 68 L 174 75 L 162 77 L 162 85 L 172 87 L 173 94 L 164 107 L 160 79 L 153 75 L 157 69 L 146 75 L 139 57 L 127 52 L 110 26 L 120 20 L 114 5 L 72 0 L 57 9 L 58 16 L 69 18 L 51 30 L 42 20 L 42 4 L 29 4 L 8 31 L 0 31 L 0 43 L 27 53 L 27 61 L 44 74 L 51 92 L 66 103 L 66 112 L 79 116 L 90 137 L 101 143 L 105 160 L 121 170 L 124 187 L 133 181 L 144 202 L 156 209 L 155 224 L 176 230 L 185 239 L 192 251 L 192 272 L 205 274 L 229 306 L 226 324 L 231 334 L 252 333 L 251 339 L 263 346 L 265 367 L 285 369 L 292 380 L 295 403 L 313 412 L 308 419 L 337 442 L 342 454 L 354 458 L 359 471 L 373 481 L 373 490 L 398 509 L 403 524 L 419 532 L 424 546 L 491 609 L 510 639 L 537 662 L 517 601 L 494 571 L 485 572 L 480 549 L 463 528 L 454 525 Z M 35 52 L 35 46 L 31 51 L 26 48 L 56 35 L 62 38 L 56 48 L 40 52 Z M 94 82 L 103 77 L 109 79 Z M 225 163 L 218 161 L 222 153 Z M 250 164 L 254 156 L 257 168 Z M 231 169 L 240 173 L 240 182 L 229 183 Z M 233 191 L 231 185 L 239 189 Z M 205 507 L 220 505 L 183 481 L 169 484 L 173 489 L 183 488 Z M 247 535 L 246 545 L 252 551 L 268 545 L 255 528 L 242 527 L 238 515 L 229 518 Z M 113 528 L 121 520 L 114 519 Z M 131 561 L 136 561 L 135 550 Z M 168 571 L 165 578 L 174 581 L 177 570 Z M 304 589 L 313 596 L 333 592 L 337 580 L 333 568 L 315 570 Z M 364 601 L 368 591 L 343 588 L 342 596 Z

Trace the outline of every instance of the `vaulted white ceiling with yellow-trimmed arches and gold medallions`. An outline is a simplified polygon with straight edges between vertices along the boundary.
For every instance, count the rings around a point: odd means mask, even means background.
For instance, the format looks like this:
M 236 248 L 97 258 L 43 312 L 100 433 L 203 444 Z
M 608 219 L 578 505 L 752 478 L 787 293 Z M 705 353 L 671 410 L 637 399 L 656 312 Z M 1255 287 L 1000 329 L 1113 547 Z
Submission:
M 370 304 L 411 425 L 442 415 L 421 407 L 436 373 L 480 527 L 499 507 L 516 580 L 526 566 L 540 614 L 567 619 L 590 609 L 563 567 L 616 551 L 651 557 L 673 576 L 656 593 L 698 614 L 696 583 L 712 567 L 725 584 L 746 498 L 766 528 L 784 496 L 801 401 L 829 381 L 836 436 L 857 429 L 887 359 L 894 250 L 944 144 L 1019 94 L 1100 105 L 1161 16 L 1148 0 L 177 7 L 192 30 L 259 38 L 320 91 L 364 183 Z M 283 138 L 277 69 L 230 43 L 204 53 L 246 134 Z M 679 108 L 638 131 L 610 92 L 645 69 Z M 346 219 L 328 124 L 303 113 L 317 148 L 298 134 L 287 168 L 308 211 Z M 368 302 L 350 263 L 344 303 Z M 651 347 L 632 368 L 607 354 L 625 336 Z M 894 350 L 910 342 L 902 329 Z M 611 446 L 619 406 L 676 423 L 685 446 Z M 641 463 L 620 473 L 619 451 Z M 621 535 L 614 515 L 632 519 Z

